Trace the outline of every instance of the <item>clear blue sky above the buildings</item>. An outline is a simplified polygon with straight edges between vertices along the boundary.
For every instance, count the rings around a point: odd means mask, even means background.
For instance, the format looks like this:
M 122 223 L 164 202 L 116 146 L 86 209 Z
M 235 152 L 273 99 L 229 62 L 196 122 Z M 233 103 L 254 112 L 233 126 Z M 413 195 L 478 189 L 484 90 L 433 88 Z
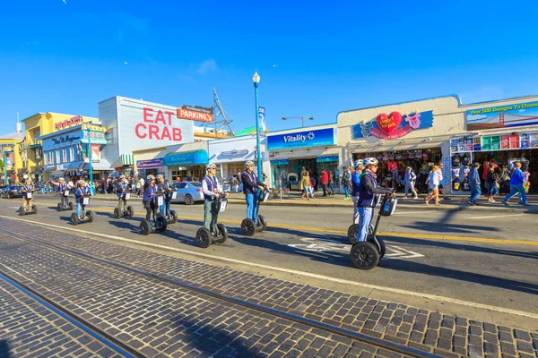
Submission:
M 538 94 L 535 1 L 4 3 L 0 134 L 16 112 L 97 116 L 115 95 L 209 107 L 213 87 L 238 131 L 254 124 L 255 69 L 273 131 L 299 126 L 289 115 Z

